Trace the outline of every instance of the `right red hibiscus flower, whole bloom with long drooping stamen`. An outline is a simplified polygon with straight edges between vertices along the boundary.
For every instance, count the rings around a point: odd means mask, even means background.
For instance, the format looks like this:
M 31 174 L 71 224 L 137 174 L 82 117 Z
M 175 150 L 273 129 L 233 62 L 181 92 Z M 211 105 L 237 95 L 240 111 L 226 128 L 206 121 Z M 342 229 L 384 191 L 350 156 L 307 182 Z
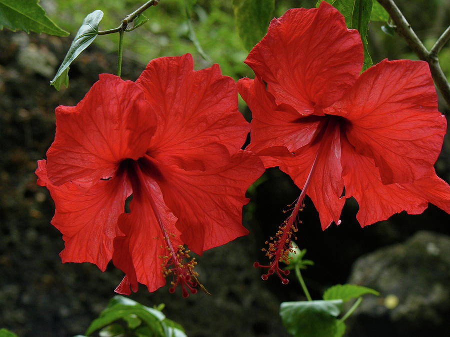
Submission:
M 237 83 L 252 112 L 247 149 L 302 190 L 267 252 L 268 274 L 283 283 L 277 264 L 305 194 L 323 230 L 339 224 L 350 197 L 361 226 L 421 213 L 428 202 L 450 213 L 450 187 L 433 169 L 446 120 L 427 63 L 383 60 L 359 75 L 362 61 L 358 32 L 324 1 L 273 19 L 245 60 L 256 75 Z

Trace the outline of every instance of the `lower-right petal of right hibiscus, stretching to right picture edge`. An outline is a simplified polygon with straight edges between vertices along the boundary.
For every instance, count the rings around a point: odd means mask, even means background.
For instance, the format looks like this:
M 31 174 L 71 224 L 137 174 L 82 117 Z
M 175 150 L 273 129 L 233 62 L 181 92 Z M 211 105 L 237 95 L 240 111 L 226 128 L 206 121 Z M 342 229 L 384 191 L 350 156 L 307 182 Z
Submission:
M 345 196 L 353 196 L 358 202 L 356 219 L 361 227 L 401 211 L 420 214 L 428 202 L 450 213 L 450 187 L 434 171 L 413 183 L 385 185 L 372 158 L 355 152 L 345 139 L 341 143 Z

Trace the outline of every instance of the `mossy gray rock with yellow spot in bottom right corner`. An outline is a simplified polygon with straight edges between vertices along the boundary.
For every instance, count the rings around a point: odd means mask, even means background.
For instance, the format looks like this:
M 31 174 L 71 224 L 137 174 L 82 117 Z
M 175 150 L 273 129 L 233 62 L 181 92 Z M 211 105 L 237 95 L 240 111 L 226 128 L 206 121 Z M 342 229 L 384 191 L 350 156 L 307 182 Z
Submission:
M 427 231 L 381 248 L 353 265 L 348 283 L 369 287 L 347 336 L 448 336 L 450 237 Z

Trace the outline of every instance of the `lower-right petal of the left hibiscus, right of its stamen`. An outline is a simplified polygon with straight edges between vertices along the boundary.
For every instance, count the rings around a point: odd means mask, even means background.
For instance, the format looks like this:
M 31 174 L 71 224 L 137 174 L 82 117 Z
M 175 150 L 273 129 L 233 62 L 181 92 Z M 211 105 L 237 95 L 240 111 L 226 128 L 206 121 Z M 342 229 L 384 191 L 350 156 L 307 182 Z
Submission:
M 256 155 L 239 150 L 227 165 L 206 171 L 160 167 L 164 201 L 190 250 L 201 254 L 248 234 L 241 224 L 245 191 L 264 171 Z

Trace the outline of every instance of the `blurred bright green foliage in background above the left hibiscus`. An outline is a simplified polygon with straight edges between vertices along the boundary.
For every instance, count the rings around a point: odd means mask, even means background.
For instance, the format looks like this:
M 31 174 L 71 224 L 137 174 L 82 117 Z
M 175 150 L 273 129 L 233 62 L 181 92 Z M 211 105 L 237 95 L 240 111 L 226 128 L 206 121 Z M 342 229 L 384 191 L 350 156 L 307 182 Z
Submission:
M 144 1 L 118 0 L 57 0 L 54 7 L 46 10 L 51 17 L 73 35 L 83 18 L 95 9 L 104 12 L 99 29 L 115 28 L 129 13 Z M 189 13 L 193 28 L 205 53 L 213 62 L 220 64 L 224 75 L 237 79 L 251 76 L 251 70 L 242 61 L 247 52 L 237 35 L 231 1 L 189 1 Z M 147 64 L 159 56 L 182 55 L 190 52 L 195 68 L 209 66 L 201 58 L 188 37 L 188 24 L 184 0 L 161 0 L 157 6 L 145 10 L 149 19 L 142 27 L 125 33 L 123 62 L 132 60 Z M 100 36 L 95 43 L 110 52 L 117 48 L 118 34 Z M 114 72 L 111 65 L 111 72 Z M 126 74 L 123 74 L 126 77 Z

